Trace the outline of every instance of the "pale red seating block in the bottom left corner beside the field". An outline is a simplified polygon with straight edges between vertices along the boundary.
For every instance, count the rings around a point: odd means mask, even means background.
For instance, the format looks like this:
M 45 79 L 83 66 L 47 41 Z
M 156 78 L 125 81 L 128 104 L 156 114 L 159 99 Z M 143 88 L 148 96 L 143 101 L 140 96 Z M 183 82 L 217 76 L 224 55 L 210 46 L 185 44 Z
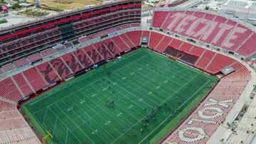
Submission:
M 16 105 L 1 100 L 0 143 L 41 143 L 16 109 Z

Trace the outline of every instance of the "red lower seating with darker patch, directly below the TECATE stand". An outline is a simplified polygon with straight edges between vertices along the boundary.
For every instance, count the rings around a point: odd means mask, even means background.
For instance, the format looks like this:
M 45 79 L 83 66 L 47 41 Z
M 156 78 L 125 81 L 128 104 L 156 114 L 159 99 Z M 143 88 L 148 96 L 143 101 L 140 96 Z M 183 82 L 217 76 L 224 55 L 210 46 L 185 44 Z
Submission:
M 177 39 L 171 40 L 170 46 L 168 48 L 164 48 L 163 45 L 166 45 L 166 40 L 166 37 L 161 40 L 161 43 L 159 43 L 159 46 L 156 48 L 157 52 L 164 50 L 164 54 L 171 57 L 177 57 L 179 58 L 178 60 L 188 63 L 189 65 L 194 65 L 195 67 L 198 67 L 210 74 L 217 74 L 224 67 L 235 62 L 235 60 L 225 55 L 220 55 L 210 50 L 193 46 L 190 43 L 182 44 L 182 42 L 178 42 L 181 40 Z

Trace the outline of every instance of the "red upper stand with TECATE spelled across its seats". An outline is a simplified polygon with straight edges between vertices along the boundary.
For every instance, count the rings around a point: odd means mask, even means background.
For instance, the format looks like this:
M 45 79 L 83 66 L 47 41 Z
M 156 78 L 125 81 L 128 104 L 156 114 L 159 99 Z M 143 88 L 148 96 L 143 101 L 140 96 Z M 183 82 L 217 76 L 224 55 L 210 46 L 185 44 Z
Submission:
M 178 33 L 247 57 L 255 32 L 223 16 L 201 11 L 154 11 L 152 26 Z

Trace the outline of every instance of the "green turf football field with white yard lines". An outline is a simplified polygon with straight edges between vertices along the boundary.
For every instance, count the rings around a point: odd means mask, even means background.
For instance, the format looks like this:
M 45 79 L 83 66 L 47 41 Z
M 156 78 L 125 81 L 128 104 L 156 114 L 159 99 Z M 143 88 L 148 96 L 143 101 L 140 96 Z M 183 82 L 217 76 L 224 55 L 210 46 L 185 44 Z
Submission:
M 161 129 L 166 133 L 165 126 L 171 131 L 217 80 L 140 48 L 60 84 L 21 110 L 38 133 L 53 134 L 48 143 L 147 143 Z

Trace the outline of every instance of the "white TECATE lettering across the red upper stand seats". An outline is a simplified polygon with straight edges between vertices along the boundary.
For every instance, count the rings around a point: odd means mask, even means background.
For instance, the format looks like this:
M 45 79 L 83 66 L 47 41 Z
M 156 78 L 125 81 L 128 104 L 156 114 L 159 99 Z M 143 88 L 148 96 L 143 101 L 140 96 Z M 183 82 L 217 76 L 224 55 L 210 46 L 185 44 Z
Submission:
M 206 15 L 208 15 L 206 13 Z M 182 12 L 171 12 L 164 28 L 174 33 L 185 33 L 191 38 L 201 39 L 208 43 L 218 44 L 225 48 L 235 46 L 234 40 L 240 38 L 238 34 L 245 33 L 247 28 L 234 27 L 228 23 L 218 22 L 211 19 L 199 18 Z M 218 31 L 217 34 L 213 31 Z M 223 35 L 223 36 L 222 36 Z

